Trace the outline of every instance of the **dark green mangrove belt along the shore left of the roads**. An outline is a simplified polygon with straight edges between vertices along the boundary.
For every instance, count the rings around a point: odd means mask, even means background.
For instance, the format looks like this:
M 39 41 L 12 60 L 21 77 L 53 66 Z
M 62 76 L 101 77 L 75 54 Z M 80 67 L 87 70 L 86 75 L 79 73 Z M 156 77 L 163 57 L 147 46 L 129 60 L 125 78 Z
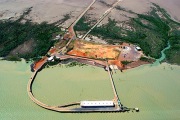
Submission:
M 27 45 L 32 49 L 32 52 L 18 52 L 15 56 L 30 59 L 43 56 L 49 48 L 54 44 L 52 34 L 60 31 L 53 24 L 43 22 L 41 24 L 32 23 L 24 17 L 28 15 L 31 8 L 26 10 L 19 19 L 0 21 L 0 57 L 6 57 L 12 50 L 17 48 L 28 40 L 35 41 L 35 45 Z M 22 22 L 23 20 L 23 22 Z M 24 22 L 26 20 L 26 22 Z

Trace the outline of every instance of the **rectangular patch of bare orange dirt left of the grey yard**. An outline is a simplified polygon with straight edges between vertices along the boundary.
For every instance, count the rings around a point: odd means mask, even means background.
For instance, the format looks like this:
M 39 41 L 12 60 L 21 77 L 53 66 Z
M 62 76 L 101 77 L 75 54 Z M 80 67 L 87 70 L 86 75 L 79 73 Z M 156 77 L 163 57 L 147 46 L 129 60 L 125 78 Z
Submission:
M 73 50 L 67 54 L 94 59 L 118 59 L 120 52 L 120 46 L 94 44 L 87 41 L 76 40 Z

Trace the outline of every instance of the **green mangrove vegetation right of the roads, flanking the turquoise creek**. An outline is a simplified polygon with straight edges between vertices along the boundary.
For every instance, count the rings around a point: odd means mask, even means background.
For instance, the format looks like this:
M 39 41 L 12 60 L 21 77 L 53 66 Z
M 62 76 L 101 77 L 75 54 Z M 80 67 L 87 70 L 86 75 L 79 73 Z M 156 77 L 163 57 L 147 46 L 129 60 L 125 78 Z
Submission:
M 137 14 L 131 10 L 116 7 L 117 10 L 136 15 L 126 22 L 117 22 L 109 18 L 108 23 L 96 27 L 90 34 L 101 37 L 109 44 L 128 42 L 139 45 L 145 55 L 160 58 L 161 51 L 170 41 L 171 49 L 165 53 L 167 61 L 180 64 L 180 23 L 172 20 L 167 12 L 156 4 L 152 4 L 147 14 Z M 83 22 L 84 21 L 84 22 Z M 119 27 L 121 24 L 121 27 Z M 77 31 L 87 31 L 91 22 L 81 19 Z M 83 29 L 82 29 L 83 28 Z

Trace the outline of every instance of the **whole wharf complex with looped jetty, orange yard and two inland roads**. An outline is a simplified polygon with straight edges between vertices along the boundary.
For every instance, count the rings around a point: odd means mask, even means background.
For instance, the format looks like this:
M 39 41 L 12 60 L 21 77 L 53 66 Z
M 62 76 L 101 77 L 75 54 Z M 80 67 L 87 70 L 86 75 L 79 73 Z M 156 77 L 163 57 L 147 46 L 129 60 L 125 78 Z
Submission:
M 113 81 L 112 69 L 117 69 L 120 71 L 128 69 L 128 66 L 122 64 L 122 61 L 138 61 L 140 57 L 143 56 L 141 48 L 128 43 L 121 43 L 119 45 L 103 45 L 84 40 L 90 33 L 90 31 L 93 30 L 93 28 L 95 28 L 113 10 L 113 8 L 119 2 L 121 2 L 121 0 L 115 2 L 111 8 L 103 13 L 97 23 L 82 38 L 76 37 L 74 26 L 95 2 L 96 0 L 93 0 L 92 3 L 83 11 L 83 13 L 78 16 L 78 18 L 66 30 L 66 33 L 62 36 L 62 38 L 60 38 L 59 42 L 51 47 L 47 55 L 31 65 L 31 71 L 33 72 L 33 74 L 29 79 L 27 92 L 30 99 L 42 108 L 67 113 L 125 112 L 130 110 L 139 111 L 138 108 L 127 108 L 121 104 Z M 36 78 L 36 75 L 38 74 L 38 72 L 40 72 L 43 66 L 47 62 L 51 62 L 54 59 L 59 59 L 60 61 L 72 59 L 80 63 L 105 69 L 109 75 L 114 98 L 112 100 L 102 101 L 82 100 L 80 102 L 73 102 L 70 104 L 59 106 L 49 106 L 37 100 L 32 91 L 33 82 Z M 76 107 L 74 108 L 73 106 Z

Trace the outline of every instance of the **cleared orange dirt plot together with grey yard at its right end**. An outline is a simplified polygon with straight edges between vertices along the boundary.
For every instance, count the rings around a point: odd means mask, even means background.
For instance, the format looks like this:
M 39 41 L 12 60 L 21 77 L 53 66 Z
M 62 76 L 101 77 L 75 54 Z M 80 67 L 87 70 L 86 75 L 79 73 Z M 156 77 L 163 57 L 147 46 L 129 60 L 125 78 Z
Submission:
M 137 67 L 142 64 L 152 63 L 152 60 L 146 57 L 143 54 L 143 51 L 137 50 L 136 45 L 127 43 L 106 45 L 85 40 L 75 40 L 70 44 L 68 49 L 69 51 L 67 54 L 70 55 L 70 58 L 80 58 L 82 60 L 79 62 L 83 63 L 83 60 L 86 59 L 89 62 L 91 61 L 91 65 L 96 66 L 94 63 L 99 63 L 104 67 L 106 67 L 105 61 L 108 61 L 109 65 L 114 66 L 111 69 L 118 68 L 123 70 Z M 61 59 L 61 56 L 59 57 Z

